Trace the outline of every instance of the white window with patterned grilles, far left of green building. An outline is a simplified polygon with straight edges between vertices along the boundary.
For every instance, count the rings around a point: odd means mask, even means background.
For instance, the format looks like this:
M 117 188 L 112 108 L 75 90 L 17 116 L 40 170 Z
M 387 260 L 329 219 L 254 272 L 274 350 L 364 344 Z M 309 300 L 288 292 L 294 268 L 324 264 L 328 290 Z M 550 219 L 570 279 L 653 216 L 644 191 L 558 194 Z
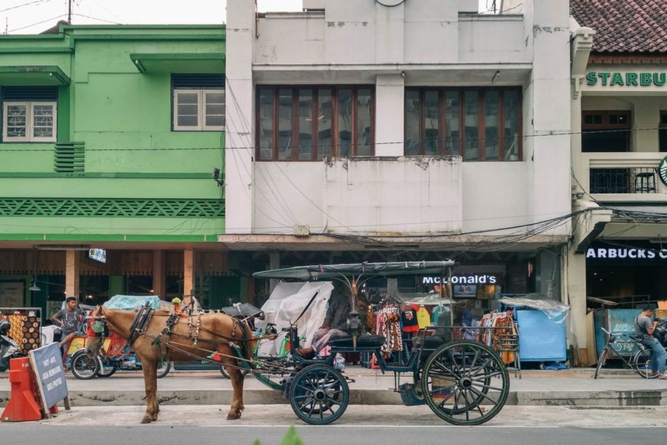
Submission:
M 3 142 L 55 142 L 57 99 L 57 88 L 2 88 Z

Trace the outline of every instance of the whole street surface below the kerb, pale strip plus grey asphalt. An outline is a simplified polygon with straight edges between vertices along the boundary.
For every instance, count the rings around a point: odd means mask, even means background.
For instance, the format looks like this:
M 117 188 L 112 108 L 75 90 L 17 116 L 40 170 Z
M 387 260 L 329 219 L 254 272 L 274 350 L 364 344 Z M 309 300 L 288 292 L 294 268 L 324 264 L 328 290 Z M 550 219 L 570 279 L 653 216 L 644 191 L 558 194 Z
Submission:
M 450 426 L 426 406 L 350 405 L 331 426 L 307 426 L 289 405 L 248 405 L 227 421 L 228 405 L 163 405 L 140 425 L 141 406 L 72 407 L 38 422 L 0 423 L 0 444 L 280 444 L 294 425 L 304 445 L 664 444 L 667 406 L 505 406 L 484 426 Z

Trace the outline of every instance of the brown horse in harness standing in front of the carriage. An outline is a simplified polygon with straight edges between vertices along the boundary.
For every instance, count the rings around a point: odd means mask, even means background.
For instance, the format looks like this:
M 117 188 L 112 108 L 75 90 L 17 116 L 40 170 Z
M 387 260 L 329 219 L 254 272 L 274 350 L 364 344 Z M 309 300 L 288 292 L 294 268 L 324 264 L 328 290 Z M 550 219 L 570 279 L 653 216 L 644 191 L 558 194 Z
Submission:
M 98 306 L 94 309 L 92 316 L 104 317 L 110 331 L 117 333 L 124 339 L 130 339 L 132 334 L 130 332 L 131 325 L 136 314 L 137 311 L 122 311 Z M 243 348 L 245 359 L 252 359 L 254 339 L 248 325 L 226 314 L 201 314 L 201 317 L 195 314 L 192 316 L 191 325 L 189 325 L 187 317 L 181 317 L 173 325 L 172 333 L 161 337 L 159 346 L 156 346 L 153 344 L 154 339 L 160 335 L 160 332 L 163 332 L 168 316 L 169 314 L 164 311 L 154 312 L 148 325 L 132 344 L 141 362 L 146 389 L 146 414 L 141 423 L 149 423 L 158 419 L 160 407 L 156 392 L 157 369 L 160 359 L 165 357 L 165 359 L 174 362 L 195 362 L 208 357 L 213 351 L 217 351 L 222 356 L 222 362 L 229 373 L 231 386 L 233 387 L 231 407 L 227 419 L 240 418 L 244 409 L 243 375 L 236 368 L 238 361 L 235 357 L 237 356 L 229 342 L 236 343 Z M 197 321 L 199 321 L 198 330 Z M 198 332 L 198 335 L 195 344 L 196 332 Z M 85 343 L 88 355 L 97 355 L 101 345 L 101 337 L 88 337 Z

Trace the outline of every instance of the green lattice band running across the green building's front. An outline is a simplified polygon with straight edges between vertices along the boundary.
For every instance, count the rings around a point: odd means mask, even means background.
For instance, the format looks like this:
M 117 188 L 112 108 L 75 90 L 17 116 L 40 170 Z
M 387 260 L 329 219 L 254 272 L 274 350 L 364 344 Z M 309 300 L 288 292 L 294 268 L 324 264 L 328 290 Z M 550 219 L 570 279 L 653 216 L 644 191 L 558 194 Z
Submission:
M 211 218 L 224 216 L 224 201 L 0 198 L 3 216 Z

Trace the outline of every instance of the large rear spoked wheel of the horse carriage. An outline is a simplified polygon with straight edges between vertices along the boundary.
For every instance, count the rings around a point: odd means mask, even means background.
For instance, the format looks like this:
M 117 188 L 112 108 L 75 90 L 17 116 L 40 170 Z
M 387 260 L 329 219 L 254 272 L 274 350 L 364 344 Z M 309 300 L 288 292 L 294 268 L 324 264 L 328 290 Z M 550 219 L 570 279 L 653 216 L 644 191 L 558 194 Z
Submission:
M 440 419 L 453 425 L 480 425 L 502 410 L 509 394 L 509 374 L 488 346 L 453 341 L 427 359 L 422 391 Z

